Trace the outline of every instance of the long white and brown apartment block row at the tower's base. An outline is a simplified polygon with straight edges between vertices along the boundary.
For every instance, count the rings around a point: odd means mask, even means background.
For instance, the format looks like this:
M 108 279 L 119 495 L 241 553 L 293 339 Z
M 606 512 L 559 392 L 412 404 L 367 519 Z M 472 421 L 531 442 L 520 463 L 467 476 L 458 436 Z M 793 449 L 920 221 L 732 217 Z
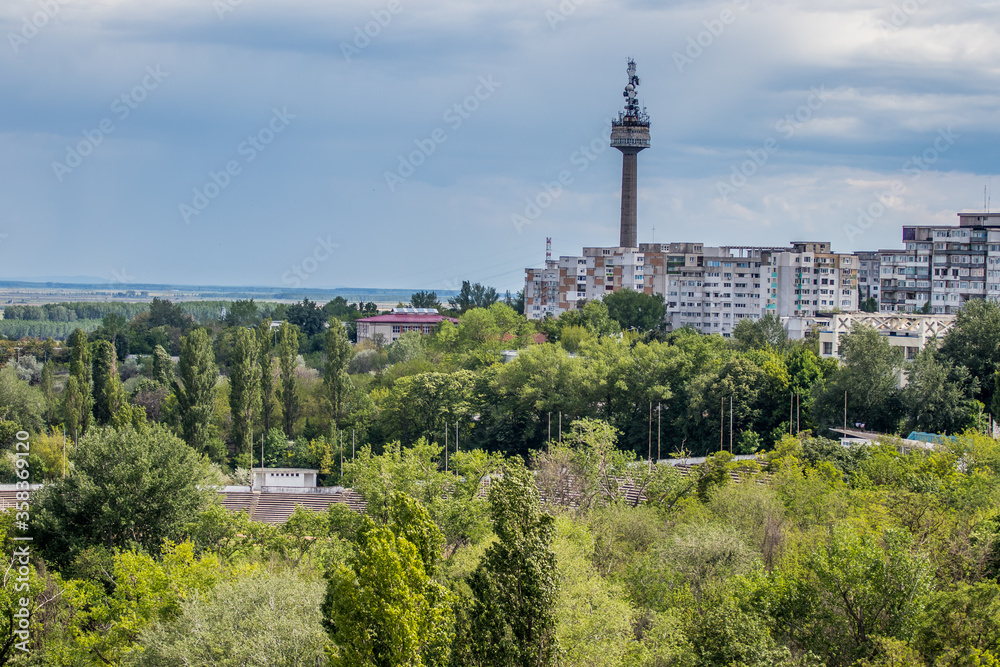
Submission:
M 544 269 L 527 269 L 525 314 L 558 317 L 584 300 L 629 288 L 662 294 L 667 325 L 732 334 L 742 319 L 858 308 L 855 255 L 825 242 L 790 248 L 705 247 L 701 243 L 644 243 L 635 248 L 584 248 Z

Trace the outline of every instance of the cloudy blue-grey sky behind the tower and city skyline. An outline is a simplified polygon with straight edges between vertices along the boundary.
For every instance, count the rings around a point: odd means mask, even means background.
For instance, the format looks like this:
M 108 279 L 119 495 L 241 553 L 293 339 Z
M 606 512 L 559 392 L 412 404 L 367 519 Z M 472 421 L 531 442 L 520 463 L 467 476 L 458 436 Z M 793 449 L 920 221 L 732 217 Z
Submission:
M 902 247 L 991 200 L 1000 2 L 5 0 L 0 279 L 523 287 L 618 243 Z M 1000 179 L 997 179 L 1000 208 Z

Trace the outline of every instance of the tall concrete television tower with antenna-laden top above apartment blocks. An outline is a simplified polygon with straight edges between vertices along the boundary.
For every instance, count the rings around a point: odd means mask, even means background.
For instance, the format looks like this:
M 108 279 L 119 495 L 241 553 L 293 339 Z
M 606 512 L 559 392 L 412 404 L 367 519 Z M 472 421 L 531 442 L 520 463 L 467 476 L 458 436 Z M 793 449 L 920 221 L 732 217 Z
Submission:
M 618 120 L 611 121 L 611 146 L 622 152 L 622 229 L 619 246 L 638 248 L 636 225 L 636 198 L 638 189 L 639 151 L 649 148 L 649 115 L 639 108 L 636 89 L 639 77 L 635 75 L 635 61 L 628 59 L 628 85 L 625 86 L 625 110 L 618 112 Z

